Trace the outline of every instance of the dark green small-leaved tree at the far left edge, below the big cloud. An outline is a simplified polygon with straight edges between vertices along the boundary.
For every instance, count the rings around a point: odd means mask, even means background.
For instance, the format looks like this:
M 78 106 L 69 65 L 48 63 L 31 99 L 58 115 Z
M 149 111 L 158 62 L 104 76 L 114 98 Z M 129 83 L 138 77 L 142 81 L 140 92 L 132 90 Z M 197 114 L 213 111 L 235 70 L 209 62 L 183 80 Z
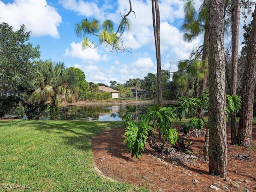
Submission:
M 14 31 L 7 23 L 0 24 L 0 92 L 18 92 L 26 89 L 33 73 L 33 61 L 40 58 L 40 46 L 29 42 L 30 31 L 25 25 Z

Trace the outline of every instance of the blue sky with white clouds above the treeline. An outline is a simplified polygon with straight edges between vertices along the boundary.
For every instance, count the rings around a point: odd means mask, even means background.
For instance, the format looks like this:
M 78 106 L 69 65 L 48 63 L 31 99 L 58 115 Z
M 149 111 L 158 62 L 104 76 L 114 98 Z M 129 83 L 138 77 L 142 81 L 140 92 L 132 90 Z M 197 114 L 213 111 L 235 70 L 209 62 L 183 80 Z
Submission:
M 115 80 L 123 84 L 129 78 L 142 79 L 156 73 L 151 0 L 131 2 L 136 17 L 130 14 L 131 29 L 122 36 L 131 53 L 111 53 L 104 46 L 82 50 L 82 38 L 74 32 L 76 22 L 92 16 L 100 21 L 110 19 L 118 26 L 120 13 L 130 9 L 128 0 L 0 0 L 0 22 L 14 30 L 25 24 L 31 31 L 30 42 L 41 47 L 42 60 L 50 58 L 64 62 L 66 67 L 80 68 L 88 82 L 110 85 Z M 201 1 L 195 2 L 198 8 Z M 179 60 L 187 59 L 192 49 L 202 44 L 202 37 L 191 43 L 183 41 L 183 4 L 181 0 L 160 0 L 162 69 L 171 72 L 177 70 Z M 240 34 L 242 42 L 242 31 Z M 97 44 L 96 39 L 90 39 Z

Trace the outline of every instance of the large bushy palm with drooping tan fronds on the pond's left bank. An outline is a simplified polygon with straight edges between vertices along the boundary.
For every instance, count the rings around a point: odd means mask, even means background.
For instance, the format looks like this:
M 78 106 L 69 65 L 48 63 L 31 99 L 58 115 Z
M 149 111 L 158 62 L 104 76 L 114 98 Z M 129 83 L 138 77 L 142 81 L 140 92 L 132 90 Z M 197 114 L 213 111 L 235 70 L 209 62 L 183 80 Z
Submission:
M 62 102 L 76 101 L 76 83 L 74 72 L 67 69 L 63 62 L 46 60 L 38 66 L 30 82 L 30 87 L 34 89 L 30 102 L 50 102 L 50 115 L 54 119 Z

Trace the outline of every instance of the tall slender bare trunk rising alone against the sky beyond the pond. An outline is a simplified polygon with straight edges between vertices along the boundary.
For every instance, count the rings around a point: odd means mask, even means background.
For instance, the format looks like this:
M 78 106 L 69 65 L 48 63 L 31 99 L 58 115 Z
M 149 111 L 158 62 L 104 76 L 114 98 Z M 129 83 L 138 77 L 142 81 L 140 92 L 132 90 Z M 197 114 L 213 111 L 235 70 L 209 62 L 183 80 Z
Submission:
M 156 45 L 156 67 L 157 67 L 157 103 L 162 107 L 162 81 L 161 81 L 161 56 L 160 56 L 160 12 L 158 0 L 152 0 L 153 28 Z

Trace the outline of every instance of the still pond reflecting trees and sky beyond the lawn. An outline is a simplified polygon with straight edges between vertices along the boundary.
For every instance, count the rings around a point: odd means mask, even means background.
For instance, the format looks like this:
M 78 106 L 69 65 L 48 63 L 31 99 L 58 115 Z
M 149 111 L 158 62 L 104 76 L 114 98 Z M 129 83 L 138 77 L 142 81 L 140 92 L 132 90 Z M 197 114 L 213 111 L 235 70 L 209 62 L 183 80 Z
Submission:
M 59 111 L 58 120 L 92 120 L 92 121 L 122 121 L 127 104 L 90 104 L 86 106 L 65 106 Z M 146 109 L 148 103 L 132 104 Z M 163 104 L 170 106 L 170 104 Z M 43 114 L 41 120 L 49 120 L 48 114 Z

